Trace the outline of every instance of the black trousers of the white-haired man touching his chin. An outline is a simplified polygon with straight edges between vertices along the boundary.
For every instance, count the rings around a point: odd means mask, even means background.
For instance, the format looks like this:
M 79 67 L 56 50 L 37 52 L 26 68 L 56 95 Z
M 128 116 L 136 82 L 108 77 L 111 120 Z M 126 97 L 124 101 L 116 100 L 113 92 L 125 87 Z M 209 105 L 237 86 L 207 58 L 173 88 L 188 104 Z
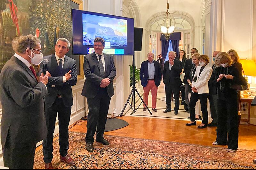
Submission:
M 174 95 L 174 111 L 178 111 L 179 107 L 180 107 L 180 99 L 179 99 L 179 95 L 180 95 L 180 86 L 179 85 L 170 85 L 169 84 L 164 84 L 165 86 L 165 101 L 166 101 L 166 108 L 167 109 L 172 109 L 171 107 L 171 98 L 172 98 L 172 92 Z

